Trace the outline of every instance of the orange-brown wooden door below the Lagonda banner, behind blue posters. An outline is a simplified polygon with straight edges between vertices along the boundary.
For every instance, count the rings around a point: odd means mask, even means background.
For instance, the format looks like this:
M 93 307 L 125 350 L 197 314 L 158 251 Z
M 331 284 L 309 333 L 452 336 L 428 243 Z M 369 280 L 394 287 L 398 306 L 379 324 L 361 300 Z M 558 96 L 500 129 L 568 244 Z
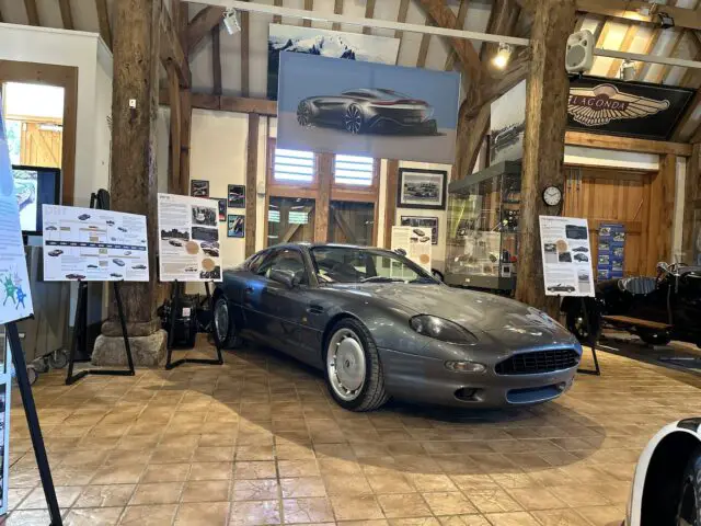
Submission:
M 646 252 L 653 172 L 600 168 L 566 168 L 563 215 L 589 221 L 591 264 L 596 276 L 599 226 L 625 226 L 625 276 L 647 274 Z

